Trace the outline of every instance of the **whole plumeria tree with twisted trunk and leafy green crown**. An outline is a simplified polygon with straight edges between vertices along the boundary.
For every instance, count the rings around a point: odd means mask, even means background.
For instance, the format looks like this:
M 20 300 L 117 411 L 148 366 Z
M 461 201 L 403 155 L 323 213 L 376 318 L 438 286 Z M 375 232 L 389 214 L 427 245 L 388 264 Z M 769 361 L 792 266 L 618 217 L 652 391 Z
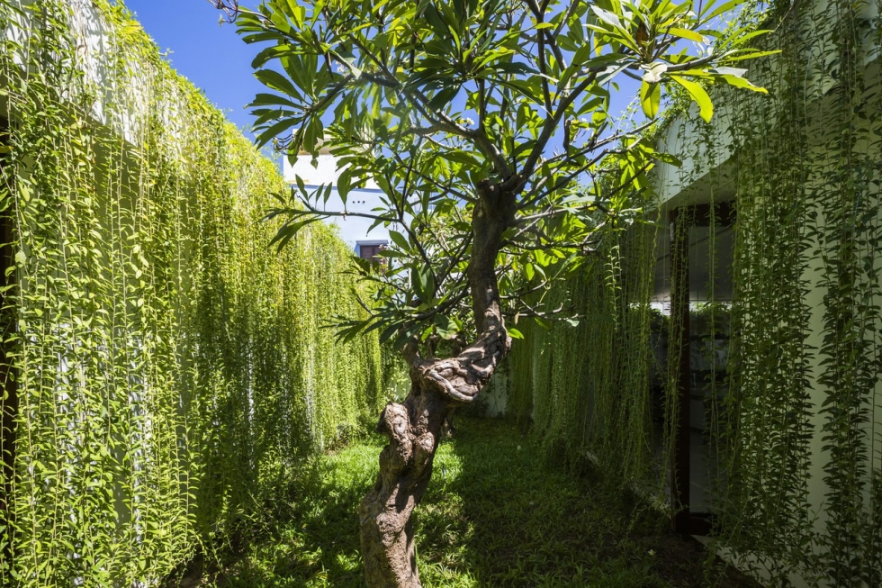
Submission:
M 641 138 L 662 94 L 678 88 L 707 120 L 708 84 L 761 91 L 733 67 L 761 54 L 743 47 L 751 34 L 715 30 L 737 0 L 210 1 L 263 45 L 258 143 L 290 158 L 330 146 L 342 169 L 339 210 L 331 186 L 280 196 L 278 246 L 334 215 L 392 227 L 387 263 L 355 260 L 375 294 L 339 333 L 379 330 L 410 367 L 410 394 L 380 417 L 389 445 L 359 514 L 368 583 L 419 586 L 410 515 L 446 416 L 475 401 L 518 321 L 576 319 L 545 293 L 635 220 L 665 158 Z M 610 97 L 628 77 L 645 122 L 620 128 Z M 348 211 L 369 181 L 382 206 Z

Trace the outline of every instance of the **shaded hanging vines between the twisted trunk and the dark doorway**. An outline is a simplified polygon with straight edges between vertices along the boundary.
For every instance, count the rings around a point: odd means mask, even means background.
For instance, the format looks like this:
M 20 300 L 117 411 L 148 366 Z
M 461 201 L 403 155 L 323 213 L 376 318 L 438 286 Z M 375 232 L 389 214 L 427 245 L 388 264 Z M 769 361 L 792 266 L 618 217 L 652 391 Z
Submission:
M 650 398 L 655 230 L 636 225 L 611 236 L 587 271 L 555 290 L 577 327 L 527 323 L 512 347 L 509 416 L 567 460 L 586 453 L 626 479 L 652 477 Z M 518 329 L 522 329 L 518 325 Z

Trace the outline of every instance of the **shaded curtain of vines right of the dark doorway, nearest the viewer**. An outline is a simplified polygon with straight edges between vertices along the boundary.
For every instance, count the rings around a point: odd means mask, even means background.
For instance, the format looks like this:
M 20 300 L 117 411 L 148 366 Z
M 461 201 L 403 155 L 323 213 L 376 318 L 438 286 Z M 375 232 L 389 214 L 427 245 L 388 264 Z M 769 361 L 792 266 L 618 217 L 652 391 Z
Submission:
M 772 583 L 882 583 L 878 6 L 773 6 L 773 100 L 732 96 L 728 543 Z

